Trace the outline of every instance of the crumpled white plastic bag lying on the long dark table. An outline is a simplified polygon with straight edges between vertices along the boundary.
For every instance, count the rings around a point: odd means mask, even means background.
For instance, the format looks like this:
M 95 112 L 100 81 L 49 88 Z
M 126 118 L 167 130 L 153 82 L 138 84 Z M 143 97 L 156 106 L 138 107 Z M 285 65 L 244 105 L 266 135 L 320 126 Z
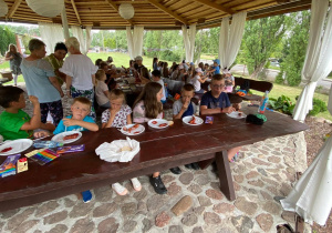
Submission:
M 124 146 L 132 148 L 132 151 L 122 151 L 121 149 Z M 111 143 L 104 142 L 95 149 L 95 153 L 100 155 L 101 160 L 107 162 L 129 162 L 139 150 L 139 142 L 126 138 L 126 140 L 115 140 Z

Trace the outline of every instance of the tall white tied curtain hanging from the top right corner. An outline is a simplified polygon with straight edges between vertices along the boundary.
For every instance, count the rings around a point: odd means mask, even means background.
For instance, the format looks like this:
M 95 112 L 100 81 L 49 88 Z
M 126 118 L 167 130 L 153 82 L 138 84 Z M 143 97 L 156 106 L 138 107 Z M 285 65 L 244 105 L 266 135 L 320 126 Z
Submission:
M 312 99 L 317 82 L 332 70 L 332 13 L 330 0 L 312 1 L 310 36 L 305 60 L 301 72 L 305 87 L 294 108 L 294 120 L 304 121 L 312 110 Z

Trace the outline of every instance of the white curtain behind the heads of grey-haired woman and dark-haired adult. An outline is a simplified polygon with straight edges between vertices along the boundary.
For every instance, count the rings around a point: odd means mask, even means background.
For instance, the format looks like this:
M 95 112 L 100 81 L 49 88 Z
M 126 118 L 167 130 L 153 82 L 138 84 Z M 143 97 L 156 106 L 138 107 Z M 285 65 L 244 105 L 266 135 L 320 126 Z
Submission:
M 46 52 L 51 54 L 58 42 L 64 42 L 62 26 L 48 22 L 39 22 L 38 24 L 41 38 L 46 44 Z

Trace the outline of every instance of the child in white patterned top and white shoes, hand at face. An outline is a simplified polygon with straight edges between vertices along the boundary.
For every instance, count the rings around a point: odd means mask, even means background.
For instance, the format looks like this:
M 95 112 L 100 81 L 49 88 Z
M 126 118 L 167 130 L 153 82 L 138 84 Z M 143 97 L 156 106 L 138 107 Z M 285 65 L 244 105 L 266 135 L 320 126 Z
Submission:
M 121 128 L 132 124 L 132 109 L 125 104 L 125 94 L 120 89 L 113 89 L 110 93 L 111 108 L 105 110 L 102 114 L 102 128 Z M 133 188 L 136 191 L 142 190 L 141 182 L 137 178 L 131 179 Z M 112 184 L 112 189 L 118 195 L 125 195 L 128 190 L 120 183 Z

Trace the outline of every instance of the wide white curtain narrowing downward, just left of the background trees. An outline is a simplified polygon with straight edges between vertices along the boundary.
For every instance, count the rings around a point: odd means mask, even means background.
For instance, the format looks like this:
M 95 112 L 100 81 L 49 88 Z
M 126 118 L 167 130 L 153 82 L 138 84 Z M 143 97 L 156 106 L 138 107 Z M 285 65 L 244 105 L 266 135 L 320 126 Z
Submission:
M 229 17 L 221 21 L 219 34 L 219 60 L 220 67 L 230 68 L 239 52 L 242 36 L 245 32 L 247 12 L 240 12 L 232 16 L 229 26 Z

